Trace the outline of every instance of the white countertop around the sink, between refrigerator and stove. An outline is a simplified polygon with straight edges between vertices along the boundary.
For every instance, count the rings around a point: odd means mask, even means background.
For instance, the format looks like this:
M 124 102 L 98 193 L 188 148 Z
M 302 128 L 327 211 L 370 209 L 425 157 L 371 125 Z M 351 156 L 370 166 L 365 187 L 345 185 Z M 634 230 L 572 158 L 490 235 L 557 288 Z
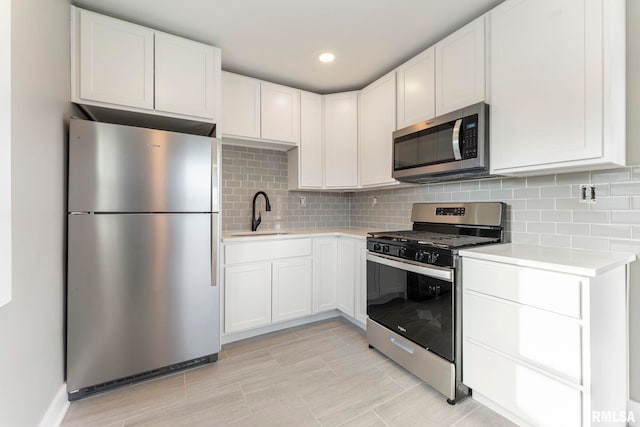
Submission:
M 222 235 L 223 243 L 246 242 L 255 240 L 300 239 L 303 237 L 344 236 L 365 239 L 370 230 L 364 228 L 311 228 L 296 230 L 258 230 L 255 232 L 226 231 Z M 280 234 L 277 234 L 280 233 Z

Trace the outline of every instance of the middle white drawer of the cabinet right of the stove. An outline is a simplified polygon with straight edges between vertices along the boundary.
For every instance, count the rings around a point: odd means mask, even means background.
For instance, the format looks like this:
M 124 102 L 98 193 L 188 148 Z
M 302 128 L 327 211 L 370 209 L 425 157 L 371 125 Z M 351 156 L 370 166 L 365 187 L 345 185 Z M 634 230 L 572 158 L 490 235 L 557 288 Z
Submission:
M 579 320 L 473 291 L 463 298 L 465 338 L 581 383 Z

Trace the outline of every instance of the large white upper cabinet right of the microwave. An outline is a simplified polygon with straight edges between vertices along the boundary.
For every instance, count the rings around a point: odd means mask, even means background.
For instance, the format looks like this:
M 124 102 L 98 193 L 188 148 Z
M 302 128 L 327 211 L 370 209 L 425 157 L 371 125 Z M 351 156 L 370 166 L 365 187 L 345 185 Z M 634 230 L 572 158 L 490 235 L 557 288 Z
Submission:
M 491 169 L 625 163 L 625 6 L 510 0 L 490 15 Z

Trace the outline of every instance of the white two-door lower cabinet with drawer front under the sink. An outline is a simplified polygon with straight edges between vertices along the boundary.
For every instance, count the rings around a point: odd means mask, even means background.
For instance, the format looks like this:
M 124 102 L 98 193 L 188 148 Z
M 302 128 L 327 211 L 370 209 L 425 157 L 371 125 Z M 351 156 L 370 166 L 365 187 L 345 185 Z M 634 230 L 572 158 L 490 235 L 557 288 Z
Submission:
M 311 239 L 224 245 L 224 332 L 311 314 Z

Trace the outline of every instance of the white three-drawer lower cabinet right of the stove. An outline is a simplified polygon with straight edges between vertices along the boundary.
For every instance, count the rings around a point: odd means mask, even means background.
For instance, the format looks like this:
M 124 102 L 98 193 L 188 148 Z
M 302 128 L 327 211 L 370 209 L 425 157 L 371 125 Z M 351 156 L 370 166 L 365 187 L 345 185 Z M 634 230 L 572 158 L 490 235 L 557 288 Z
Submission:
M 626 409 L 625 267 L 567 271 L 463 256 L 462 382 L 521 425 Z

